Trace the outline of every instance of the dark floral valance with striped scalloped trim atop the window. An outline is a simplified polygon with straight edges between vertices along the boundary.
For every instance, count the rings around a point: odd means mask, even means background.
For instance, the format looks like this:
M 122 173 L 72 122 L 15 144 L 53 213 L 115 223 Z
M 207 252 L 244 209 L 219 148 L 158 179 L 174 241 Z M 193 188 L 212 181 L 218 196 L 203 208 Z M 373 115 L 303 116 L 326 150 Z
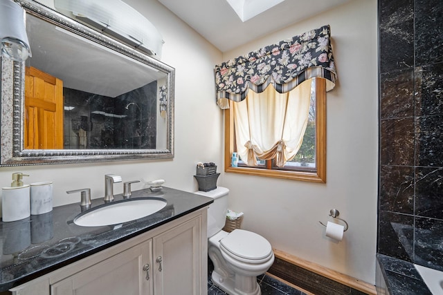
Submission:
M 217 104 L 229 108 L 228 99 L 240 102 L 249 88 L 261 93 L 269 84 L 285 93 L 311 77 L 325 78 L 332 90 L 336 71 L 329 37 L 327 25 L 215 66 Z

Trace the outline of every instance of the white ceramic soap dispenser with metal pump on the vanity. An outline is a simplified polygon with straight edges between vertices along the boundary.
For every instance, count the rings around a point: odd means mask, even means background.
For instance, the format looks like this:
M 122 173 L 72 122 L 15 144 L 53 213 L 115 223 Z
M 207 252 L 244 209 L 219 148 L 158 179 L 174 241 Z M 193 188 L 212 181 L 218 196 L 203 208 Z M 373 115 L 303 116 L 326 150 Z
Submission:
M 24 173 L 12 173 L 10 187 L 1 189 L 1 214 L 3 222 L 16 221 L 30 216 L 30 186 L 23 184 Z

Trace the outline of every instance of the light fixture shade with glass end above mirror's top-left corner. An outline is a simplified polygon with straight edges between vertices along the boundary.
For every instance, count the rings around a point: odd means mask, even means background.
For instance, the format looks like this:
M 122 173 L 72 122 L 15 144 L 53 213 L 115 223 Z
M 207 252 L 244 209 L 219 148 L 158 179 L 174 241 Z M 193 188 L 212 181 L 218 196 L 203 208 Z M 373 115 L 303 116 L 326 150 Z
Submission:
M 0 41 L 5 57 L 25 61 L 31 56 L 23 8 L 11 0 L 0 0 Z

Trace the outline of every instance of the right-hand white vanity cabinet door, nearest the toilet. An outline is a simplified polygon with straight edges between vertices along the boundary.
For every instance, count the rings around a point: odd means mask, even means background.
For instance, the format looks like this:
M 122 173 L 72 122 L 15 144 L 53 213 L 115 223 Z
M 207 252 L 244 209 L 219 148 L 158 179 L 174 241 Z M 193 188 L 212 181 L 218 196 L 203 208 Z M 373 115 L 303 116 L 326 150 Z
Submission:
M 154 294 L 205 293 L 201 274 L 201 216 L 188 220 L 153 238 Z

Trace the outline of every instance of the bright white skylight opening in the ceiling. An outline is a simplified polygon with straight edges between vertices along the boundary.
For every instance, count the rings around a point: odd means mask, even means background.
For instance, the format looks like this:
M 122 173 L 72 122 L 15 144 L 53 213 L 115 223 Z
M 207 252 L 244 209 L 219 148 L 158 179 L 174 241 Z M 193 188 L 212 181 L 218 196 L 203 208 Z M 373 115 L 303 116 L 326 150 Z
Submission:
M 284 0 L 226 0 L 238 17 L 243 21 L 252 19 L 260 13 L 273 8 Z

